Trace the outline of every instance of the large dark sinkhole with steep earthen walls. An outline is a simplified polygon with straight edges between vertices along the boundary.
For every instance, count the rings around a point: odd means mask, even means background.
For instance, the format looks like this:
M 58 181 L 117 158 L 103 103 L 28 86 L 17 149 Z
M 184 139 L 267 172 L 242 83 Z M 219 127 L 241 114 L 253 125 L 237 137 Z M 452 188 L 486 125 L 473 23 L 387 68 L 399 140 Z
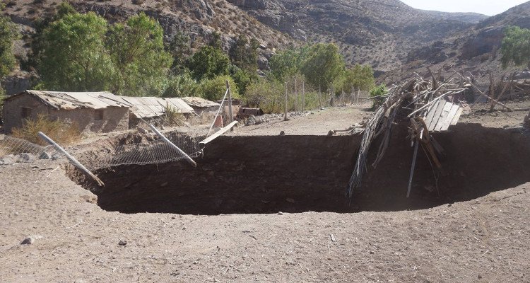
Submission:
M 179 161 L 118 166 L 95 172 L 98 188 L 78 173 L 71 178 L 98 195 L 107 211 L 232 214 L 359 212 L 424 209 L 472 200 L 530 181 L 530 138 L 520 132 L 457 125 L 435 134 L 446 155 L 437 181 L 420 150 L 411 198 L 406 198 L 413 149 L 406 128 L 396 127 L 377 168 L 345 197 L 360 144 L 356 136 L 219 137 L 199 166 Z M 379 143 L 372 146 L 368 162 Z

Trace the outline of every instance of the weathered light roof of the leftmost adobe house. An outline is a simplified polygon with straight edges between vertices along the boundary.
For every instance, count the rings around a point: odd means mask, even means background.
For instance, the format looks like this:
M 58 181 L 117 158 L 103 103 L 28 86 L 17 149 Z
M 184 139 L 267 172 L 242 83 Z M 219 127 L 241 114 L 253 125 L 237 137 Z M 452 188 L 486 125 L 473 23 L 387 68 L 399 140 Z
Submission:
M 109 92 L 63 92 L 63 91 L 25 91 L 16 96 L 10 96 L 11 100 L 24 93 L 42 101 L 55 109 L 71 110 L 76 108 L 101 109 L 107 107 L 130 107 L 122 97 L 114 96 Z

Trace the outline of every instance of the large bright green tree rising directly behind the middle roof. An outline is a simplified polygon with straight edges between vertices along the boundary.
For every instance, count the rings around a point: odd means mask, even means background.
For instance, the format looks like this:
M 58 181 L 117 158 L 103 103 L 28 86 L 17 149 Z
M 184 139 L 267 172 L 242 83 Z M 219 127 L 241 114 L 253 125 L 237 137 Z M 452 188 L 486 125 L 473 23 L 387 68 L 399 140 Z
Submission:
M 112 91 L 124 96 L 161 96 L 172 56 L 164 49 L 163 29 L 140 13 L 110 30 L 108 50 L 116 67 Z

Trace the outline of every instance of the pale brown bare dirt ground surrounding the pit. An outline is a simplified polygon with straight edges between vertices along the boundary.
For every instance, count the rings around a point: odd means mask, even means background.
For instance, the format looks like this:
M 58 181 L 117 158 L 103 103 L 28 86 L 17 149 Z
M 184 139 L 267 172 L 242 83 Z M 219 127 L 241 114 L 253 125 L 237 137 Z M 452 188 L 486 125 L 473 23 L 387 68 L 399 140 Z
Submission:
M 526 113 L 462 120 L 519 127 Z M 334 108 L 233 134 L 325 135 L 368 115 Z M 530 183 L 416 211 L 122 214 L 58 162 L 0 166 L 1 282 L 530 282 Z

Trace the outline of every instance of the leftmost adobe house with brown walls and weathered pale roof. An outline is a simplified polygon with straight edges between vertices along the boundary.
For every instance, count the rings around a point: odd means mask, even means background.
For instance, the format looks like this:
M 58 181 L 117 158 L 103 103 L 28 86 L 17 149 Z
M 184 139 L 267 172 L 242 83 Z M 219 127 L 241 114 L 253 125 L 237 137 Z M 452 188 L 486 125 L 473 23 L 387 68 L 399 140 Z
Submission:
M 4 99 L 4 130 L 10 133 L 24 120 L 44 114 L 75 122 L 83 133 L 122 131 L 129 129 L 130 107 L 108 92 L 24 91 Z

